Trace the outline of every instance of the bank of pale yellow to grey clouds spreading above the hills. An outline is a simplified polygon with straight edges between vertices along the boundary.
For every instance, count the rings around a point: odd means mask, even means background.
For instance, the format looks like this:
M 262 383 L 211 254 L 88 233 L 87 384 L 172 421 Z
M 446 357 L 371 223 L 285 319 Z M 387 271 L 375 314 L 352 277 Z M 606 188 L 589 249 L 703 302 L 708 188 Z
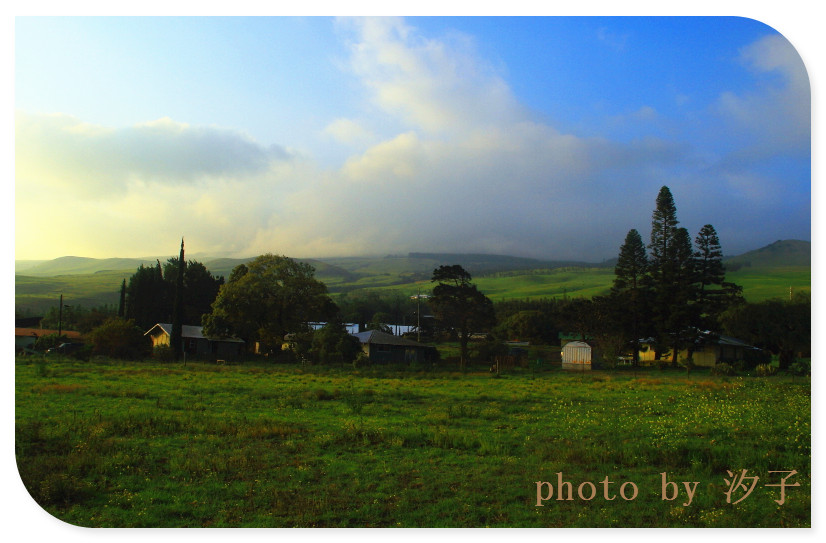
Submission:
M 193 250 L 236 256 L 596 261 L 615 256 L 630 228 L 646 231 L 662 185 L 683 225 L 714 224 L 724 249 L 809 224 L 777 209 L 782 173 L 757 169 L 809 145 L 808 79 L 782 38 L 743 49 L 746 65 L 776 77 L 719 97 L 704 119 L 709 137 L 724 125 L 742 145 L 709 153 L 679 135 L 561 133 L 519 104 L 467 36 L 425 38 L 397 19 L 344 20 L 339 31 L 366 113 L 331 119 L 319 135 L 354 150 L 337 167 L 221 127 L 160 119 L 112 129 L 18 112 L 18 258 L 36 258 L 43 240 L 54 247 L 47 258 L 173 254 L 185 235 Z M 643 106 L 626 122 L 656 117 Z

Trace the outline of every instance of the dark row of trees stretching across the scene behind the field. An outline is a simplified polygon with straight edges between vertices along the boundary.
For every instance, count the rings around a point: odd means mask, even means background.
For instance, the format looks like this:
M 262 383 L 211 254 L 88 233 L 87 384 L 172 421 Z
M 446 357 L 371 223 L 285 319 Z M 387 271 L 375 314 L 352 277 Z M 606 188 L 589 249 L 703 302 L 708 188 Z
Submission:
M 476 348 L 483 356 L 500 352 L 508 339 L 558 345 L 559 334 L 568 333 L 596 344 L 609 364 L 629 354 L 638 363 L 644 341 L 654 349 L 655 358 L 676 365 L 691 364 L 693 352 L 704 342 L 727 333 L 779 354 L 781 367 L 787 367 L 808 350 L 810 300 L 797 296 L 748 304 L 742 288 L 726 281 L 722 258 L 715 228 L 704 225 L 692 240 L 679 226 L 671 191 L 662 187 L 649 243 L 638 230 L 630 230 L 619 248 L 610 291 L 591 299 L 494 304 L 478 290 L 470 273 L 452 265 L 433 271 L 427 300 L 367 292 L 342 294 L 334 301 L 310 264 L 265 254 L 236 266 L 225 280 L 200 262 L 186 261 L 182 240 L 177 258 L 163 265 L 142 265 L 123 281 L 116 319 L 101 322 L 107 311 L 93 310 L 78 322 L 94 330 L 107 325 L 110 336 L 133 339 L 138 335 L 130 336 L 130 327 L 140 330 L 143 338 L 154 324 L 172 323 L 176 354 L 183 324 L 200 324 L 209 337 L 241 338 L 248 349 L 272 355 L 281 354 L 289 336 L 295 352 L 316 361 L 350 361 L 356 356 L 358 346 L 344 322 L 364 329 L 419 323 L 425 340 L 458 341 L 461 367 L 470 361 L 471 337 L 477 334 L 487 337 L 486 347 Z M 327 326 L 313 332 L 310 322 Z M 686 361 L 678 360 L 682 352 L 687 353 Z

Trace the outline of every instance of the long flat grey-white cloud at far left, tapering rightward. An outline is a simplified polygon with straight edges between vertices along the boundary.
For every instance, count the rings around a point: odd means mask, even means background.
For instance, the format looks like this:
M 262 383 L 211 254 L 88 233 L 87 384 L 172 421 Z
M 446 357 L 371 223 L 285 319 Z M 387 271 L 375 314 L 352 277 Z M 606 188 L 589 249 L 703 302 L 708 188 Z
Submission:
M 265 148 L 234 131 L 159 119 L 128 128 L 91 126 L 67 115 L 17 112 L 15 162 L 19 180 L 88 197 L 122 196 L 130 182 L 188 184 L 255 175 L 281 148 Z

